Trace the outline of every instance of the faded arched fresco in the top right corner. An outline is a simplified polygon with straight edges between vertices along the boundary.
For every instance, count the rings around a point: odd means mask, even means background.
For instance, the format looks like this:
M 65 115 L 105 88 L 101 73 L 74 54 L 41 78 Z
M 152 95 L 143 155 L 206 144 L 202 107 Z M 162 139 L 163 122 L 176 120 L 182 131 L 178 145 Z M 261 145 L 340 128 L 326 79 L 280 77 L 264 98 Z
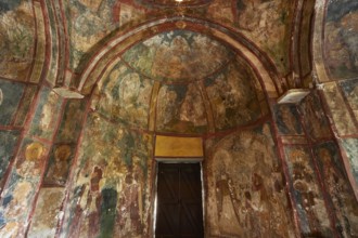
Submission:
M 325 65 L 333 79 L 358 76 L 358 2 L 329 1 L 324 29 Z

